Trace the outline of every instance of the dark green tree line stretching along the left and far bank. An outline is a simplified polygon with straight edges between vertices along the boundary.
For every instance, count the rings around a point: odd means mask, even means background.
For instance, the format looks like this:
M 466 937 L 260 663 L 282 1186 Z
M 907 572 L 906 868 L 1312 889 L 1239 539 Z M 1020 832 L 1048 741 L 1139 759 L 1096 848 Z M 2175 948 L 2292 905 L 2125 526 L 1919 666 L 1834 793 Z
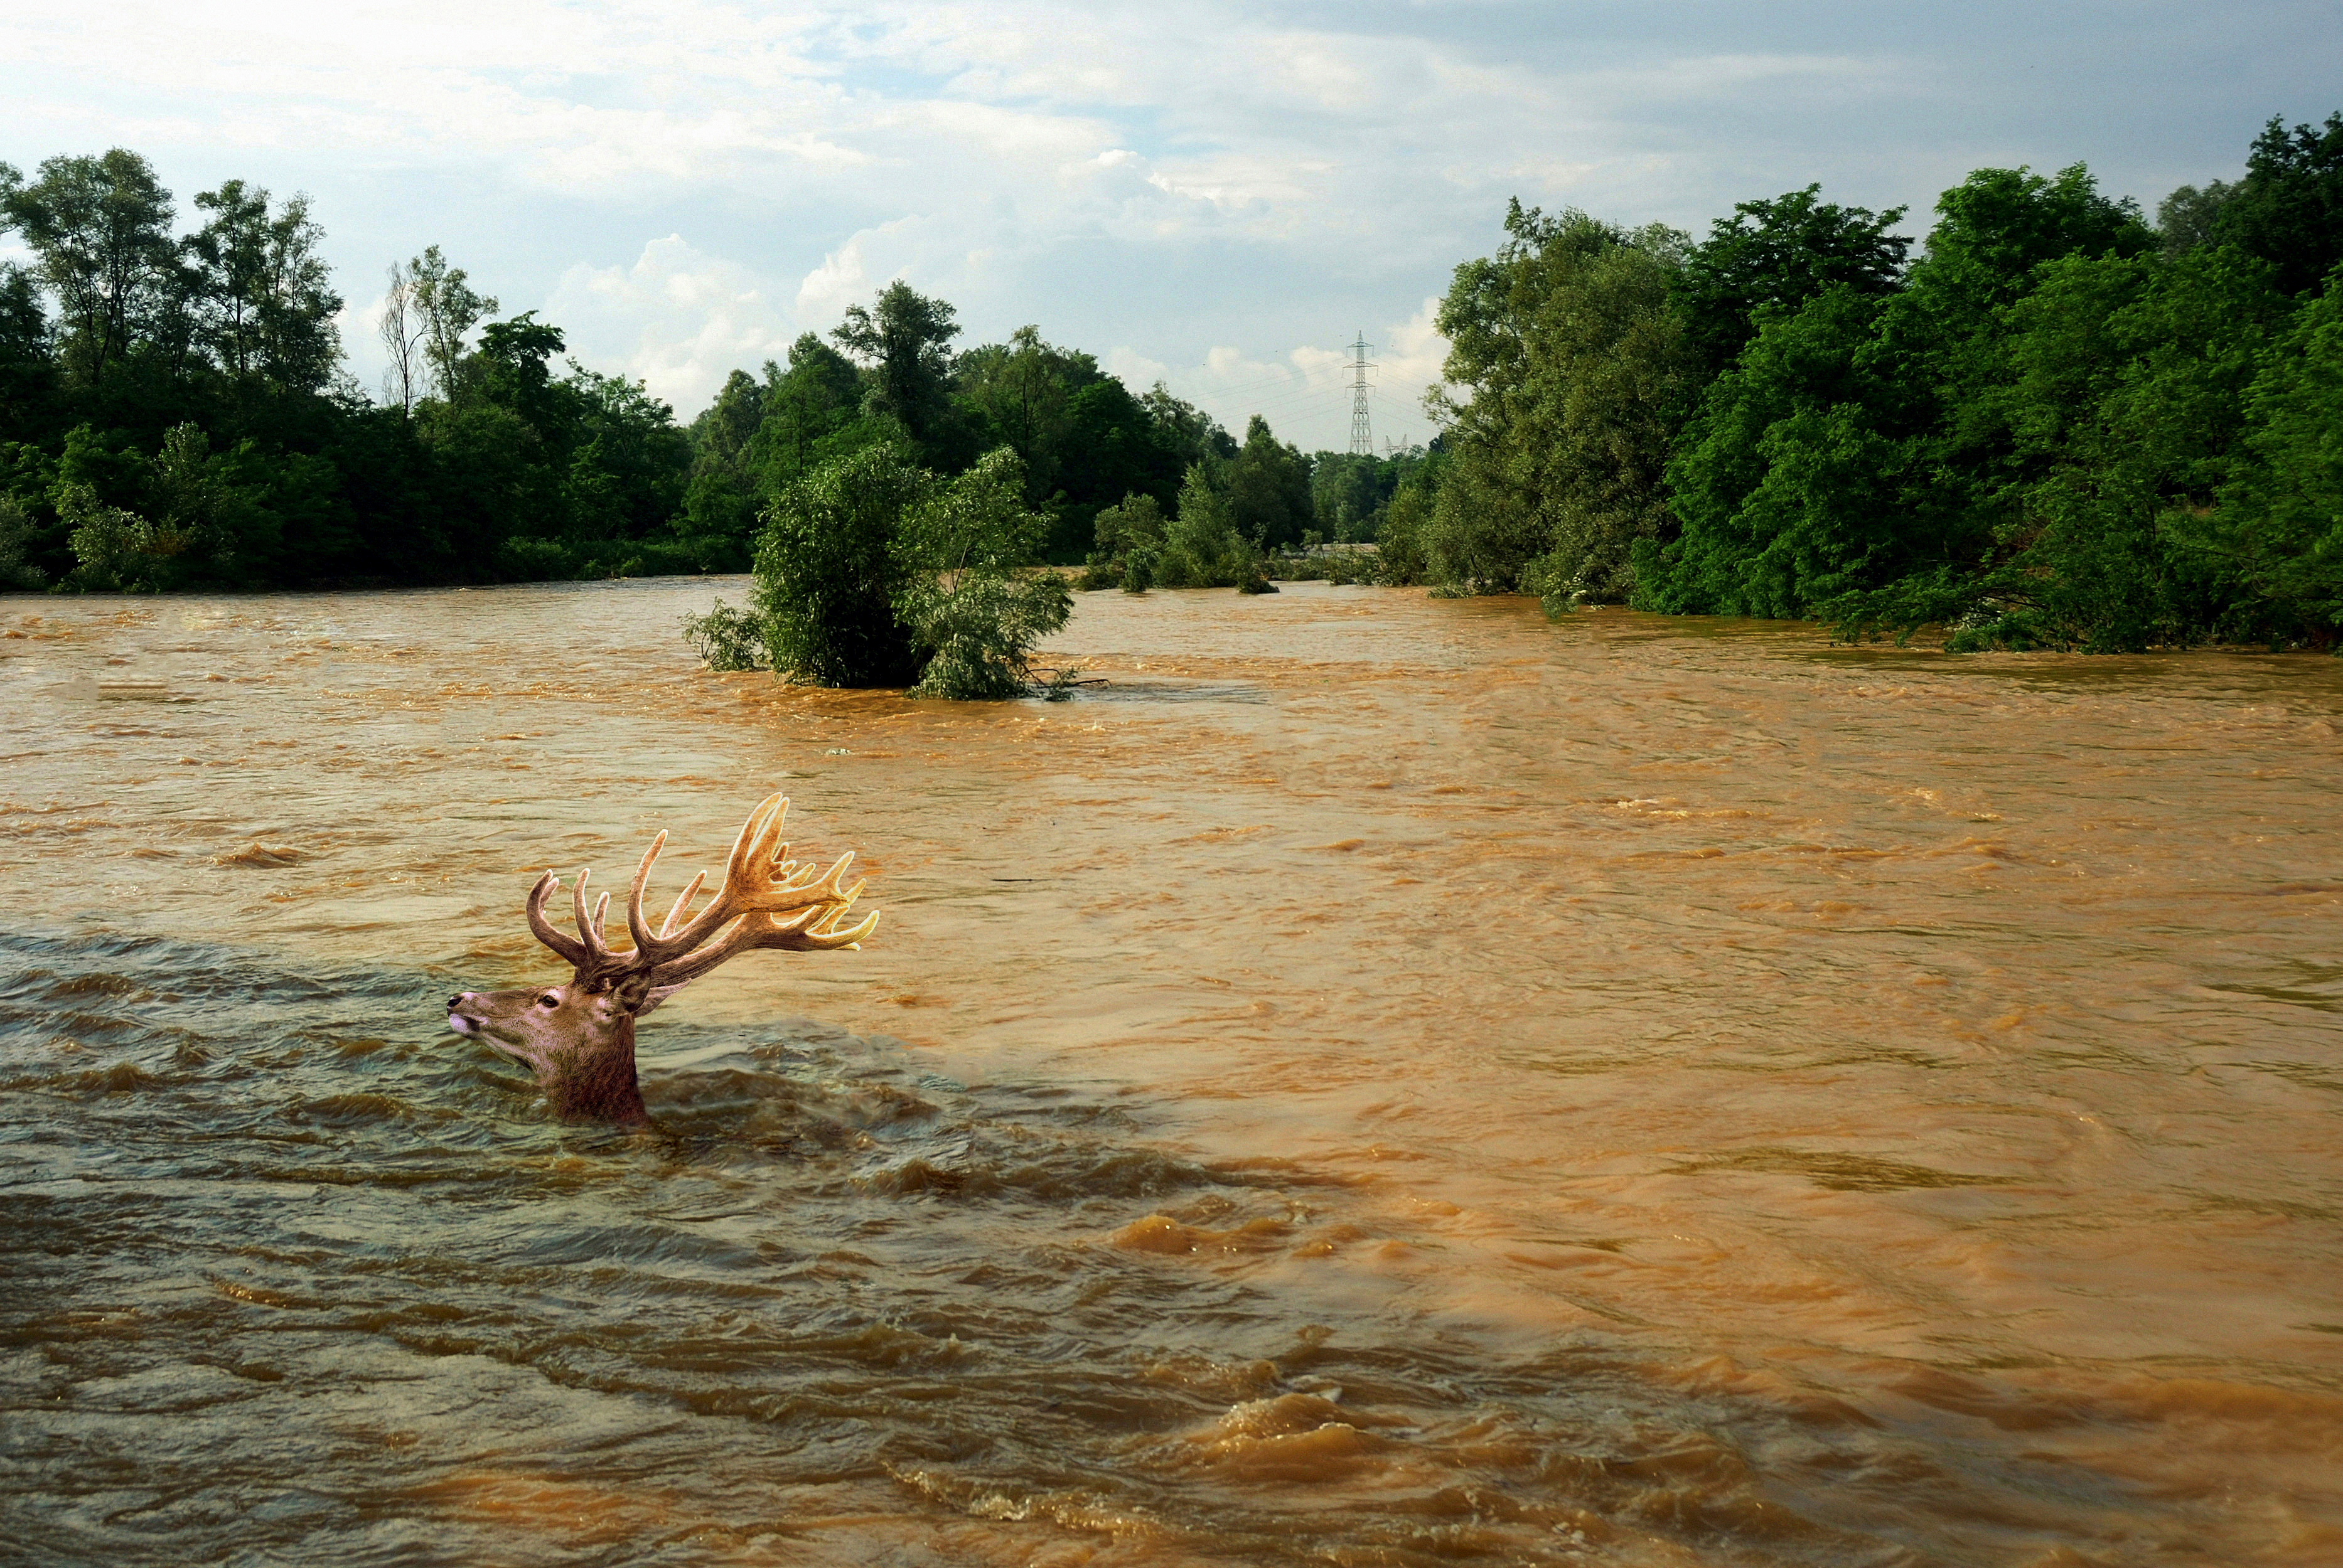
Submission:
M 119 148 L 30 178 L 0 164 L 0 234 L 33 258 L 0 265 L 0 586 L 743 572 L 778 497 L 879 448 L 937 478 L 1015 452 L 1033 551 L 1059 563 L 1132 504 L 1190 497 L 1230 563 L 1366 534 L 1380 504 L 1375 473 L 1258 417 L 1237 441 L 1033 326 L 954 352 L 951 305 L 900 281 L 787 363 L 736 370 L 686 427 L 429 246 L 389 267 L 387 375 L 366 389 L 307 197 L 227 180 L 192 209 Z

